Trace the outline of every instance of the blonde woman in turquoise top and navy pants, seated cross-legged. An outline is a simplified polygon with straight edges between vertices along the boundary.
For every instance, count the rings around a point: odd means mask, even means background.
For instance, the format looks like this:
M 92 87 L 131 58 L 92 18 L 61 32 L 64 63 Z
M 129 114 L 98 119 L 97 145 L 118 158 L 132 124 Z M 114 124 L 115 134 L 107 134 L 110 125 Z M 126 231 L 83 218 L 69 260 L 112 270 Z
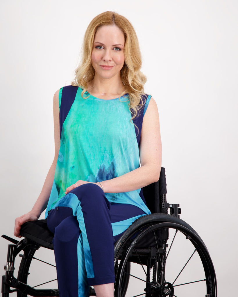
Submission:
M 150 213 L 141 188 L 159 179 L 161 140 L 140 67 L 131 23 L 104 12 L 86 30 L 72 85 L 54 94 L 54 161 L 14 235 L 46 208 L 61 297 L 88 296 L 89 285 L 112 297 L 114 241 Z

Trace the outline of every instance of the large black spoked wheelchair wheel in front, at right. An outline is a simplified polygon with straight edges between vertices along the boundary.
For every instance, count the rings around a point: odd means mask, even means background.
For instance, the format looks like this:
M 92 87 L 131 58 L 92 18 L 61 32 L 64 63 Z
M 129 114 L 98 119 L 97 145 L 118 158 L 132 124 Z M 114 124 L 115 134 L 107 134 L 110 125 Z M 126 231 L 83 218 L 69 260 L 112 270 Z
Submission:
M 186 222 L 171 215 L 138 219 L 116 244 L 115 260 L 115 297 L 217 296 L 215 271 L 205 244 Z M 126 271 L 128 263 L 130 272 Z

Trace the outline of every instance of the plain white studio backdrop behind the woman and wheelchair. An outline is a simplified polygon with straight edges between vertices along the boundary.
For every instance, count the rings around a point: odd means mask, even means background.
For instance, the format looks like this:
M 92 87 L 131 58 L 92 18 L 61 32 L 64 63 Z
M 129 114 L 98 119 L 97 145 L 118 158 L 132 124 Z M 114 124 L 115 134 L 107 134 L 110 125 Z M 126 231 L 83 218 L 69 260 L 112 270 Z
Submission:
M 13 236 L 41 190 L 54 157 L 53 94 L 70 84 L 84 31 L 106 10 L 137 31 L 160 113 L 167 200 L 203 238 L 226 296 L 238 264 L 236 0 L 1 1 L 0 233 Z

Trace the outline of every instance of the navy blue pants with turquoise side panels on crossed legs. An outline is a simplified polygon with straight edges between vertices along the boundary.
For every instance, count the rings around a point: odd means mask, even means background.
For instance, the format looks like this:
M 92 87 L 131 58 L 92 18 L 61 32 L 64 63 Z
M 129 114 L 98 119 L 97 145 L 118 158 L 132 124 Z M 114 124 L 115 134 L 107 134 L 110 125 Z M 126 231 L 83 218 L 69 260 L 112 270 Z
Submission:
M 54 233 L 60 297 L 86 297 L 90 285 L 115 282 L 114 242 L 143 215 L 137 206 L 110 203 L 95 184 L 58 200 L 47 225 Z

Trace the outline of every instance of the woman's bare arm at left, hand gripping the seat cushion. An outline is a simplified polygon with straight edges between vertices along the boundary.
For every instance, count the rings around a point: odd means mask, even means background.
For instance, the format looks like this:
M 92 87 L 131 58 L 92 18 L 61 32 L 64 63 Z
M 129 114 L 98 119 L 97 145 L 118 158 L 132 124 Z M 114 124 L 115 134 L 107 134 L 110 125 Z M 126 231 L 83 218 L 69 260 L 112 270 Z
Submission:
M 60 150 L 60 113 L 59 113 L 59 90 L 54 94 L 53 100 L 53 113 L 54 113 L 54 160 L 46 176 L 46 180 L 42 187 L 39 197 L 37 198 L 32 210 L 27 214 L 23 214 L 21 217 L 15 219 L 14 235 L 21 237 L 20 229 L 21 225 L 25 222 L 36 221 L 39 219 L 41 213 L 46 209 L 52 184 L 54 181 L 55 167 Z

